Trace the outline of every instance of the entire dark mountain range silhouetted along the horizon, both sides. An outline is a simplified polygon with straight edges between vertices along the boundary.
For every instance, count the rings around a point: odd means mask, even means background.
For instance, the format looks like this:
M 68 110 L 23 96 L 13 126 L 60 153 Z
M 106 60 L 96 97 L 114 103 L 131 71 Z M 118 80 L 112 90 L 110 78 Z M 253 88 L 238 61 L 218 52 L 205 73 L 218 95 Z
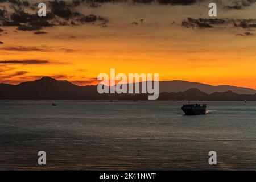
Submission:
M 175 88 L 175 85 L 179 88 Z M 197 88 L 189 88 L 193 85 L 196 85 Z M 223 86 L 184 81 L 164 81 L 159 82 L 159 87 L 159 100 L 256 101 L 255 93 L 238 94 L 233 90 L 225 90 Z M 209 88 L 221 88 L 224 92 L 213 92 L 213 89 L 209 90 Z M 227 86 L 227 88 L 235 89 L 237 92 L 253 92 L 253 89 L 248 88 L 236 88 L 234 86 Z M 204 89 L 208 89 L 208 93 L 203 91 Z M 162 92 L 163 90 L 176 90 L 176 92 Z M 59 81 L 51 77 L 43 77 L 19 85 L 0 84 L 1 100 L 147 100 L 147 98 L 147 94 L 99 94 L 97 85 L 78 86 L 69 81 Z

